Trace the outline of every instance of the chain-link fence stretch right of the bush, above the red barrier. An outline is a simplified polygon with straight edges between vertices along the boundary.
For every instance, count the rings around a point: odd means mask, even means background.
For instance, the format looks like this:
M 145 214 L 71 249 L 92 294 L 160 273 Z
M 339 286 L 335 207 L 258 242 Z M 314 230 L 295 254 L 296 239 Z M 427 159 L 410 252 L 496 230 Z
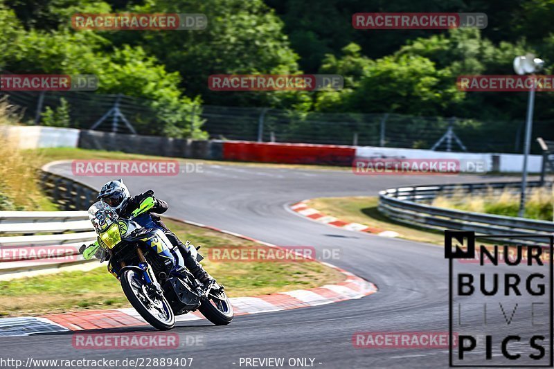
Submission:
M 267 108 L 202 107 L 213 138 L 331 143 L 446 151 L 521 152 L 524 118 L 481 121 L 401 114 L 317 113 Z M 554 121 L 536 121 L 533 136 L 554 138 Z M 539 147 L 535 147 L 539 152 Z

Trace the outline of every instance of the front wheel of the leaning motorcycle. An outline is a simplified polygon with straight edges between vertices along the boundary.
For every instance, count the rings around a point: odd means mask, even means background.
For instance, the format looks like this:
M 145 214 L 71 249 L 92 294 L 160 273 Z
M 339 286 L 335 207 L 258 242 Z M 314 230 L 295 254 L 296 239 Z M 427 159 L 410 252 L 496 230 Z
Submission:
M 127 270 L 121 274 L 121 288 L 127 300 L 152 327 L 157 330 L 170 330 L 175 325 L 175 314 L 168 300 L 161 295 L 156 301 L 152 301 L 146 292 L 142 278 L 136 278 L 136 276 L 137 273 L 133 270 Z

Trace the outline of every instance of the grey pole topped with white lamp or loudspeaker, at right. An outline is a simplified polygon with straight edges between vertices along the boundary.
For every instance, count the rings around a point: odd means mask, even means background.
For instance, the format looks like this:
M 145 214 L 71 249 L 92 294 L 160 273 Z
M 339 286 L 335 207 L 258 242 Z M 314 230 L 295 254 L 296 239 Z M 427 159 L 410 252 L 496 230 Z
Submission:
M 514 71 L 519 75 L 526 73 L 535 73 L 542 69 L 544 61 L 535 57 L 533 54 L 518 56 L 514 59 Z M 533 129 L 533 108 L 535 107 L 535 85 L 531 84 L 529 90 L 529 99 L 527 100 L 527 118 L 525 129 L 525 146 L 524 146 L 524 168 L 521 176 L 521 193 L 519 195 L 519 212 L 518 217 L 525 215 L 525 192 L 527 188 L 527 161 L 531 147 L 531 130 Z

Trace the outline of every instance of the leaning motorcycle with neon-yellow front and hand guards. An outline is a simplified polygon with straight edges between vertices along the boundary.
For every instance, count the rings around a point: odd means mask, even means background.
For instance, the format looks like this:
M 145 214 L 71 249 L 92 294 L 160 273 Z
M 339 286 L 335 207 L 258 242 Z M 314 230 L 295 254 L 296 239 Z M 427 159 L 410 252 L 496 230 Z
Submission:
M 129 303 L 158 330 L 170 330 L 175 316 L 195 310 L 215 325 L 228 325 L 233 307 L 224 289 L 215 283 L 203 286 L 163 231 L 132 220 L 152 206 L 154 199 L 148 197 L 125 219 L 105 202 L 96 202 L 88 213 L 98 237 L 91 246 L 81 246 L 80 253 L 87 260 L 107 260 L 108 271 L 120 281 Z M 198 261 L 203 259 L 189 241 L 185 246 Z

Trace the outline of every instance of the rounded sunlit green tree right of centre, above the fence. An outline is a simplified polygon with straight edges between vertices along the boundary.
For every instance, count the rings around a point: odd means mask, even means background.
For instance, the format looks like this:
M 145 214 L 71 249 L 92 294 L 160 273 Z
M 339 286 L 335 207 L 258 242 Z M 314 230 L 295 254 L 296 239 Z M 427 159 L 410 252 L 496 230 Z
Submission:
M 344 75 L 351 88 L 341 92 L 320 93 L 315 104 L 319 111 L 398 112 L 414 115 L 443 115 L 463 99 L 456 89 L 455 76 L 448 68 L 437 69 L 427 57 L 398 53 L 379 60 L 359 55 L 359 47 L 350 44 L 337 60 L 328 55 L 325 73 Z

